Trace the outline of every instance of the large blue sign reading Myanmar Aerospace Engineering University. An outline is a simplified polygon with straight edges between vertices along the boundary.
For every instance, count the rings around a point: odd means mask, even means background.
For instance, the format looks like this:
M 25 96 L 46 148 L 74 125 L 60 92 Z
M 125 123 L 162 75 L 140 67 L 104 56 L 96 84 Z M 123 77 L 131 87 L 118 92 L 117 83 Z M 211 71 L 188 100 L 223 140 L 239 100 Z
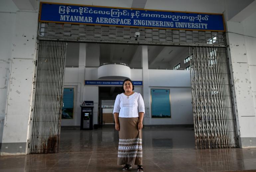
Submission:
M 222 14 L 156 11 L 89 5 L 40 4 L 41 22 L 160 29 L 225 31 Z

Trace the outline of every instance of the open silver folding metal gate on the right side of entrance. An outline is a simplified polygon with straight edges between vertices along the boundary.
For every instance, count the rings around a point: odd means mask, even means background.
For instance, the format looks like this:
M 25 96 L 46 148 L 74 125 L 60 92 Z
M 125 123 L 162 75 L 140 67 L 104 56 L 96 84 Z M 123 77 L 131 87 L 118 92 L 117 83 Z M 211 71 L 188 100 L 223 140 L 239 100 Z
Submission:
M 190 47 L 196 149 L 236 148 L 226 48 Z

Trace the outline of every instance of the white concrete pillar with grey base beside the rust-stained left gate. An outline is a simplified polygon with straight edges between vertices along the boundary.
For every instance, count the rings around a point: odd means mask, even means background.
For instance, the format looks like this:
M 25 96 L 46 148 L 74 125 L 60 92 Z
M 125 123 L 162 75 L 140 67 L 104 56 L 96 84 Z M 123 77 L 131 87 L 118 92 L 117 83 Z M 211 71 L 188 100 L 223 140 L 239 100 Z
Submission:
M 13 39 L 1 155 L 27 153 L 37 25 L 36 12 L 17 12 L 15 30 L 9 33 Z

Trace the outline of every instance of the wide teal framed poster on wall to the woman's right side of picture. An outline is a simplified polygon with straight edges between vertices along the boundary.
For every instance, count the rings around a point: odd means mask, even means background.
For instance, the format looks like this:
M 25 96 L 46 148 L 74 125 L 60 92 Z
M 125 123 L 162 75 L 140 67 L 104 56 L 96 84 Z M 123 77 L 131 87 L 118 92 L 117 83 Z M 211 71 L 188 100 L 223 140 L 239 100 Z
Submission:
M 152 118 L 171 118 L 170 89 L 151 89 Z

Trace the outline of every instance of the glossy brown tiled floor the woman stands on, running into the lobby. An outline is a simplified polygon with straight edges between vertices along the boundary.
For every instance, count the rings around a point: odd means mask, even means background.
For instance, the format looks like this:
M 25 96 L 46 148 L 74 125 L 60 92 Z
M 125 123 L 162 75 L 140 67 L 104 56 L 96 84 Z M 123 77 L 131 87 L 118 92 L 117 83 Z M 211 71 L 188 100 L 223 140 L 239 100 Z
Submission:
M 190 127 L 144 128 L 144 171 L 256 171 L 256 149 L 195 150 L 193 138 Z M 0 156 L 0 171 L 120 172 L 117 145 L 112 126 L 92 131 L 64 128 L 60 153 Z M 137 171 L 136 166 L 131 171 Z

